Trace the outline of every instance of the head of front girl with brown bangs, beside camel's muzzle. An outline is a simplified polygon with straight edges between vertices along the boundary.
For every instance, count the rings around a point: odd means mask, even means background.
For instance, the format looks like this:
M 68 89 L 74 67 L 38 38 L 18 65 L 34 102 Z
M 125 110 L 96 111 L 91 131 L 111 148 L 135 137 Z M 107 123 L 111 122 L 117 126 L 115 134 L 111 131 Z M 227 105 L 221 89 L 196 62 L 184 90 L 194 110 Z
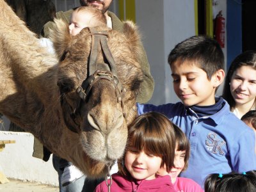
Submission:
M 151 180 L 165 164 L 171 168 L 175 150 L 173 126 L 161 113 L 138 116 L 129 126 L 127 148 L 119 163 L 120 173 L 137 180 Z

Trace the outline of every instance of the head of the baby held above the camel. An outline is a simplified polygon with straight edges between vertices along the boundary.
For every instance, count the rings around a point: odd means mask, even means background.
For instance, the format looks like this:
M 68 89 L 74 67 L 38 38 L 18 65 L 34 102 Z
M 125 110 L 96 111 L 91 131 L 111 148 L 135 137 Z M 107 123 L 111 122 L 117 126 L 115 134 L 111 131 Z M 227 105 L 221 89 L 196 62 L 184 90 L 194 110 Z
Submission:
M 77 35 L 83 28 L 106 26 L 106 17 L 102 11 L 92 6 L 81 6 L 72 12 L 69 24 L 71 35 Z

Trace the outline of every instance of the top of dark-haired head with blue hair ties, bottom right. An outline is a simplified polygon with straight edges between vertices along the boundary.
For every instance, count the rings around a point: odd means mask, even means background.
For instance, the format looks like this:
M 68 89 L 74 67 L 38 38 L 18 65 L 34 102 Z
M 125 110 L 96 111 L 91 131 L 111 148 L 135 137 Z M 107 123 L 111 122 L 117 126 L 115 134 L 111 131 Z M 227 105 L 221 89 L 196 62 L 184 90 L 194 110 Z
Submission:
M 255 171 L 244 173 L 213 173 L 204 184 L 205 192 L 255 192 Z

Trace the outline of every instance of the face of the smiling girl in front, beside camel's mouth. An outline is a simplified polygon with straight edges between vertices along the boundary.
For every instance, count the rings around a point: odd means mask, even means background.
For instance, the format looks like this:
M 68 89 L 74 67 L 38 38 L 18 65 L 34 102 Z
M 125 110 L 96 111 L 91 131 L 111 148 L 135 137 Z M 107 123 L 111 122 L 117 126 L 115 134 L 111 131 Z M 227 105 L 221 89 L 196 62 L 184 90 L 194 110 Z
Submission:
M 137 180 L 155 179 L 161 162 L 162 157 L 149 154 L 145 150 L 139 151 L 135 147 L 128 147 L 125 153 L 125 167 Z

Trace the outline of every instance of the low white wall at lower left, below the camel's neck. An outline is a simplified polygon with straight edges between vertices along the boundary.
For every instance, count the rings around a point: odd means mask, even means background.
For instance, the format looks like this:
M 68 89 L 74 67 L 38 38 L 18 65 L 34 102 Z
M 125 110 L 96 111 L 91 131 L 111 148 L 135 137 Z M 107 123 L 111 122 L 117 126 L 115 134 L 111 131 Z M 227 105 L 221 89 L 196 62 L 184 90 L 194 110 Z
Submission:
M 58 185 L 58 173 L 49 161 L 32 157 L 34 137 L 26 132 L 0 131 L 0 140 L 15 140 L 0 152 L 0 170 L 8 178 Z

